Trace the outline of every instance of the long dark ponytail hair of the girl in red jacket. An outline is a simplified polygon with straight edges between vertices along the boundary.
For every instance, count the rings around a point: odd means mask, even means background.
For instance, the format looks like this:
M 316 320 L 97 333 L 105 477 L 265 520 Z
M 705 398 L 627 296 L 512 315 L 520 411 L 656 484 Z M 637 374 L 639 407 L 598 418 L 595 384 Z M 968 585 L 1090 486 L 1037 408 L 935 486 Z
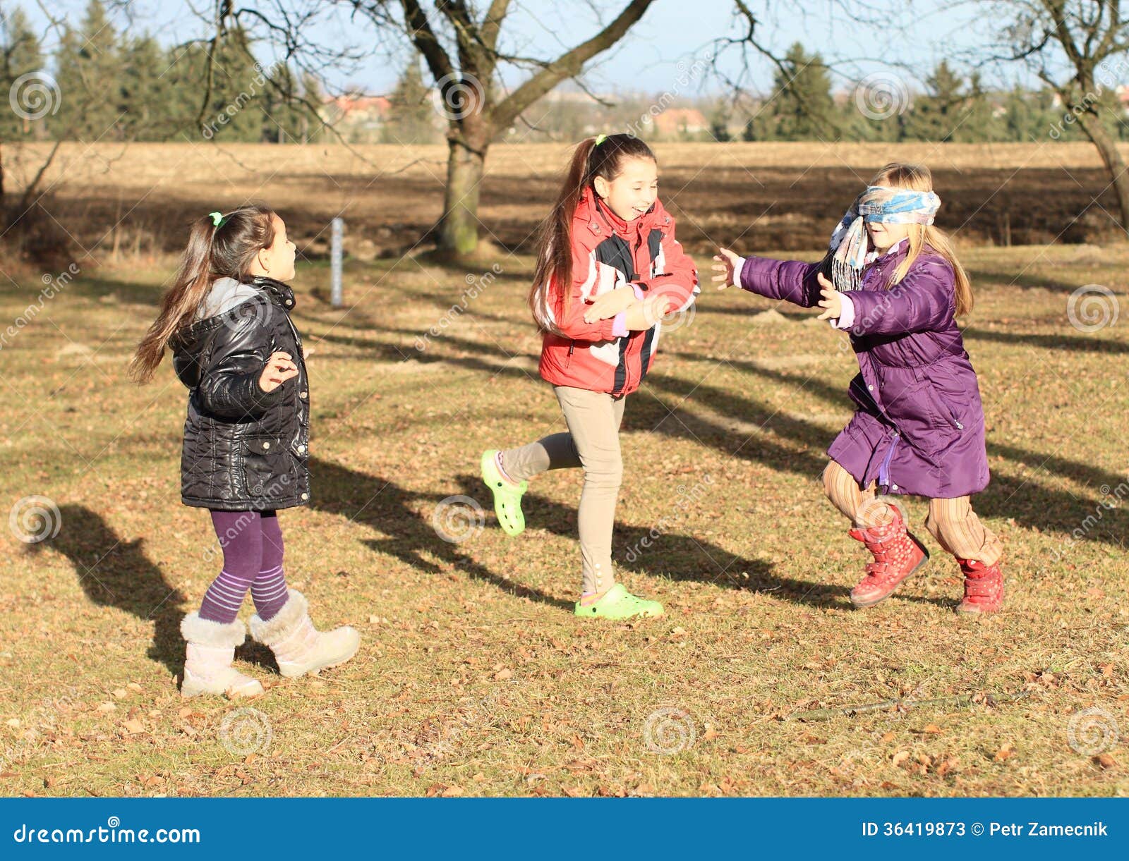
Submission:
M 607 182 L 614 179 L 623 173 L 623 162 L 628 159 L 656 160 L 650 147 L 632 134 L 609 134 L 599 141 L 599 146 L 596 146 L 597 140 L 588 138 L 580 141 L 572 151 L 557 202 L 542 222 L 537 239 L 537 269 L 530 288 L 530 310 L 537 328 L 554 335 L 560 335 L 561 331 L 553 322 L 552 311 L 557 302 L 552 288 L 553 283 L 560 285 L 560 314 L 557 318 L 563 319 L 568 314 L 572 285 L 572 217 L 585 188 L 597 176 Z

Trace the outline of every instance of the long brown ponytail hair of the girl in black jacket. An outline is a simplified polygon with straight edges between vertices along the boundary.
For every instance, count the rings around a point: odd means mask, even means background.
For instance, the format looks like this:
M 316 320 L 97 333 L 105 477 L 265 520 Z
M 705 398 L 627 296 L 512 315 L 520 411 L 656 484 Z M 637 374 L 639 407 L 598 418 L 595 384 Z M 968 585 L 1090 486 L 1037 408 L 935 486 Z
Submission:
M 168 342 L 192 323 L 212 281 L 224 276 L 245 280 L 255 255 L 273 244 L 274 210 L 263 203 L 228 212 L 218 226 L 211 216 L 193 221 L 181 267 L 160 300 L 157 319 L 138 344 L 130 376 L 140 384 L 149 383 Z

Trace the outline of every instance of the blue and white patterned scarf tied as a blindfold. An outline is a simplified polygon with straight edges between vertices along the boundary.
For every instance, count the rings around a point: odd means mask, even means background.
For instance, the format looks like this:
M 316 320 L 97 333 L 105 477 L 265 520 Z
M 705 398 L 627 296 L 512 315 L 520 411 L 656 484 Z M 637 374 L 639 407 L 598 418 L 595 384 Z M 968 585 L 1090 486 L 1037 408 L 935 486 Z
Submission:
M 865 222 L 898 225 L 931 225 L 940 197 L 933 192 L 868 185 L 839 226 L 831 234 L 828 254 L 831 257 L 831 281 L 837 290 L 858 290 L 863 284 L 863 266 L 869 251 Z

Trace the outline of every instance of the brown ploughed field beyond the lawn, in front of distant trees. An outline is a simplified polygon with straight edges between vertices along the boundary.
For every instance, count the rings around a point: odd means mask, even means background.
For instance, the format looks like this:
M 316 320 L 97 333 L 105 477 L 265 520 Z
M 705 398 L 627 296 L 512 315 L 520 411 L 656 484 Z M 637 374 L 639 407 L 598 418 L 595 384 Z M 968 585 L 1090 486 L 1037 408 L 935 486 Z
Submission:
M 820 247 L 847 202 L 890 160 L 920 160 L 944 201 L 938 223 L 988 245 L 1102 241 L 1117 212 L 1094 148 L 1042 144 L 662 143 L 655 147 L 667 208 L 697 251 L 755 221 L 762 248 Z M 15 187 L 49 148 L 5 150 Z M 528 252 L 552 202 L 569 148 L 497 144 L 480 218 L 506 251 Z M 1129 157 L 1129 144 L 1126 146 Z M 44 179 L 44 207 L 81 244 L 119 253 L 177 247 L 185 219 L 247 197 L 268 197 L 313 255 L 325 225 L 348 222 L 350 251 L 400 256 L 439 218 L 446 148 L 259 144 L 64 144 Z M 1095 202 L 1096 199 L 1096 202 Z M 117 228 L 110 231 L 110 227 Z

